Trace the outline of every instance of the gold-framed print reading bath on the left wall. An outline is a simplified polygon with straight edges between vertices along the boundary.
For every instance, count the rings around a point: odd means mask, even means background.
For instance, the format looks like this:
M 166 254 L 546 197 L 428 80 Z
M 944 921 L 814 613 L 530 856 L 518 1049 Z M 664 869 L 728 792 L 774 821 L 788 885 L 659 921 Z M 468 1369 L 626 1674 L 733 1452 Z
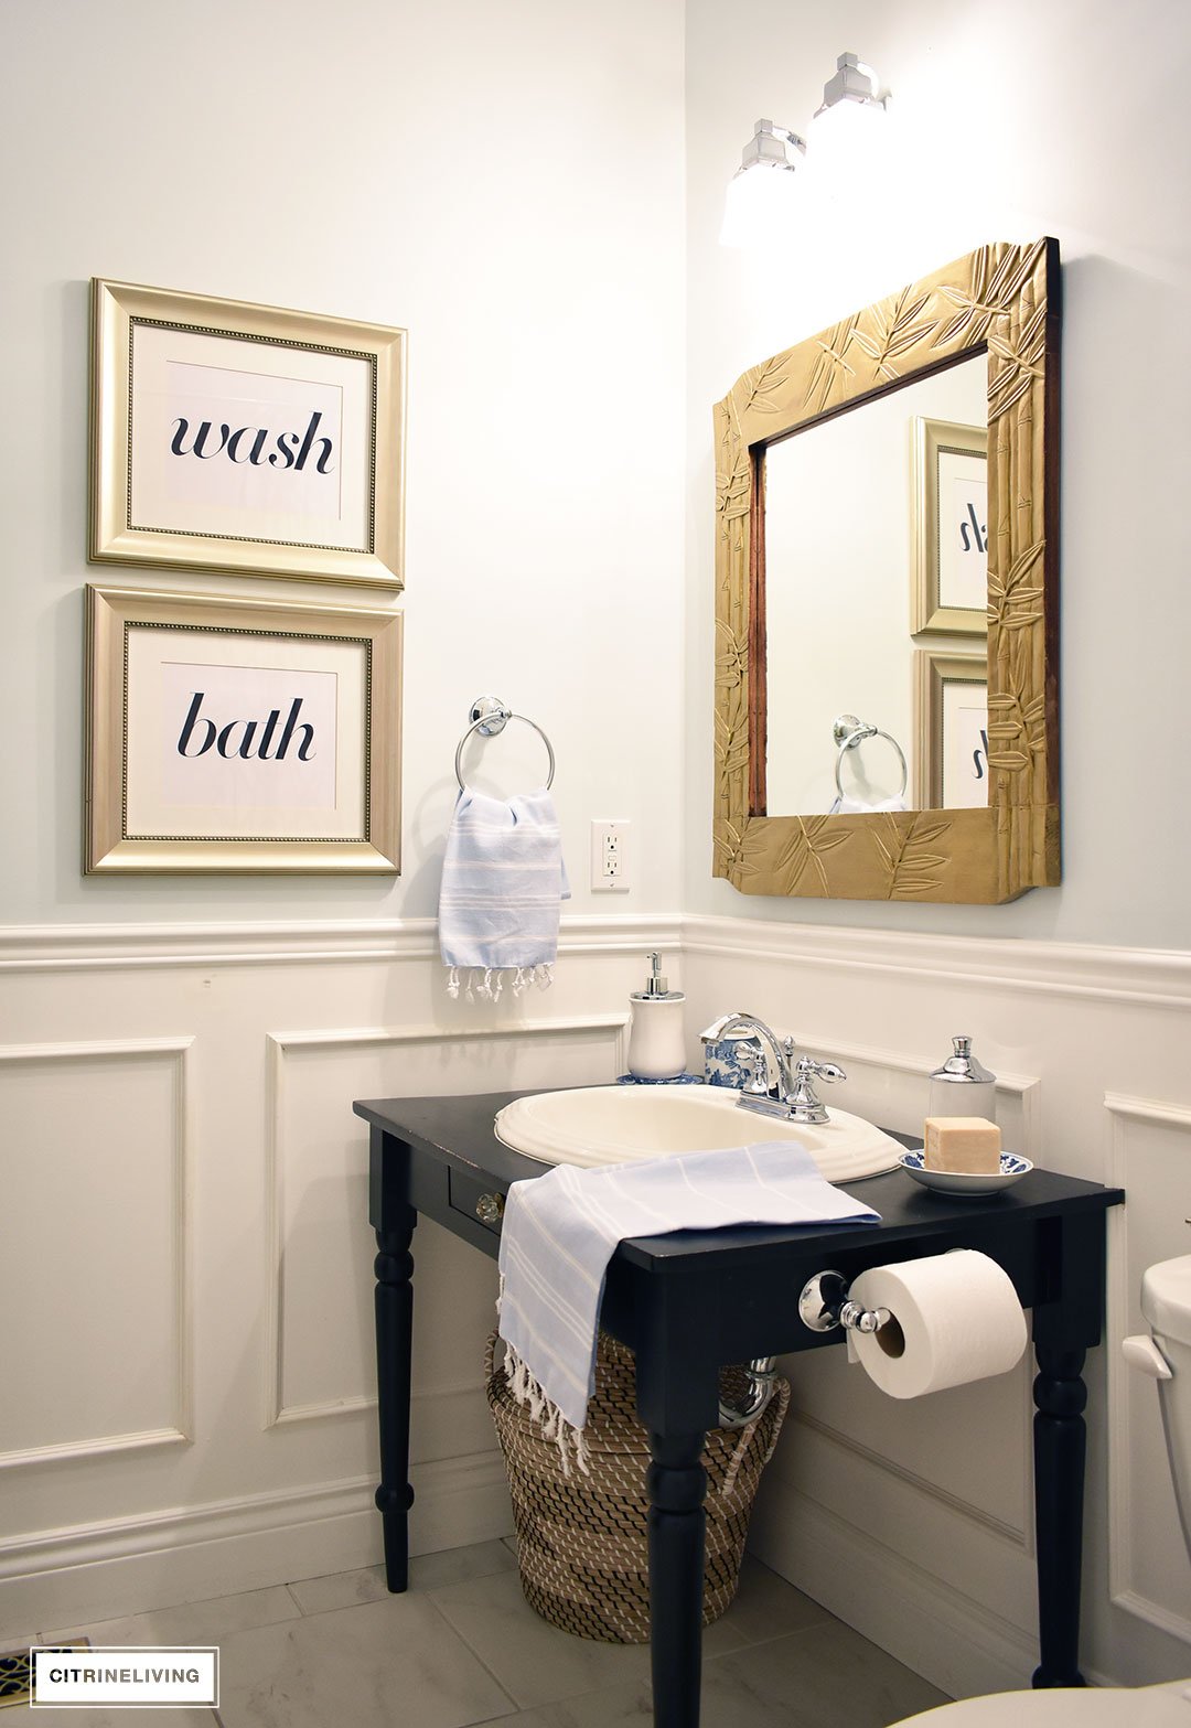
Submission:
M 401 867 L 399 612 L 86 586 L 86 874 Z

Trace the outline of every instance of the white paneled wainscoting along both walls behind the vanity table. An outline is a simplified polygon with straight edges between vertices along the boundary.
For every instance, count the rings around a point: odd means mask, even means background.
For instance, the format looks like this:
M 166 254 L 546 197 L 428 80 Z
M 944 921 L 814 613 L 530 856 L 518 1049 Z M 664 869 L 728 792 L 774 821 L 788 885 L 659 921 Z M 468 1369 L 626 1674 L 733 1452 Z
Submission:
M 686 990 L 691 1063 L 700 1028 L 747 1007 L 847 1068 L 844 1108 L 913 1130 L 970 1032 L 1009 1144 L 1127 1187 L 1087 1372 L 1084 1666 L 1122 1683 L 1191 1669 L 1153 1388 L 1105 1374 L 1139 1325 L 1141 1267 L 1191 1234 L 1191 957 L 752 918 L 567 919 L 553 990 L 496 1007 L 446 997 L 430 921 L 0 931 L 0 1161 L 24 1194 L 7 1272 L 29 1280 L 3 1329 L 5 1384 L 28 1394 L 0 1434 L 19 1484 L 0 1500 L 0 1631 L 380 1559 L 351 1099 L 614 1078 L 648 947 Z M 425 1552 L 510 1519 L 481 1388 L 494 1268 L 430 1223 L 415 1258 Z M 944 1688 L 1020 1685 L 1029 1365 L 895 1405 L 840 1358 L 788 1362 L 755 1550 Z

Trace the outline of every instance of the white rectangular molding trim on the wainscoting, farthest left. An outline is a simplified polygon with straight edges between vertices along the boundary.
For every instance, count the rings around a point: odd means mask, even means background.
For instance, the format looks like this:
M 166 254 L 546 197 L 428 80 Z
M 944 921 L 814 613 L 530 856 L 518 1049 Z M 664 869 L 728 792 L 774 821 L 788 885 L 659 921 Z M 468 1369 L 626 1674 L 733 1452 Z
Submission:
M 76 1439 L 47 1441 L 33 1446 L 12 1446 L 0 1450 L 0 1471 L 22 1465 L 45 1465 L 88 1458 L 104 1458 L 112 1453 L 138 1452 L 147 1446 L 176 1446 L 192 1438 L 194 1388 L 192 1388 L 192 1332 L 194 1332 L 194 1289 L 192 1289 L 192 1099 L 194 1082 L 190 1077 L 194 1054 L 192 1037 L 175 1039 L 80 1039 L 74 1042 L 40 1042 L 40 1044 L 5 1044 L 0 1045 L 0 1077 L 12 1075 L 16 1068 L 45 1068 L 54 1078 L 47 1082 L 50 1092 L 59 1092 L 64 1083 L 62 1070 L 71 1064 L 128 1064 L 137 1066 L 162 1063 L 169 1073 L 173 1108 L 169 1120 L 171 1137 L 171 1177 L 175 1194 L 173 1218 L 166 1227 L 173 1249 L 173 1287 L 168 1301 L 173 1312 L 171 1351 L 173 1351 L 173 1420 L 154 1427 L 135 1431 L 116 1431 Z M 10 1149 L 16 1146 L 16 1137 Z M 3 1168 L 3 1151 L 0 1151 L 0 1170 Z M 112 1175 L 116 1180 L 116 1173 Z M 29 1220 L 29 1227 L 33 1222 Z M 80 1268 L 74 1282 L 66 1282 L 80 1303 L 90 1306 L 93 1293 L 88 1291 L 86 1267 Z M 28 1341 L 31 1329 L 21 1322 L 16 1327 Z

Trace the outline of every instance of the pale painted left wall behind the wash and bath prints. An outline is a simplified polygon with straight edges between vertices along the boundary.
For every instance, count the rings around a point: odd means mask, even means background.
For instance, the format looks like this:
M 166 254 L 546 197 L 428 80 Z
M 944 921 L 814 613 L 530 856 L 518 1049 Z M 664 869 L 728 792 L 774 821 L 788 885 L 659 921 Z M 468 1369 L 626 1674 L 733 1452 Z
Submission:
M 681 29 L 679 0 L 5 0 L 0 924 L 432 914 L 487 691 L 553 740 L 572 905 L 678 902 Z M 377 603 L 88 567 L 92 275 L 408 328 L 399 881 L 80 876 L 88 579 Z M 513 791 L 545 759 L 519 727 L 486 764 Z M 627 907 L 586 899 L 591 817 L 636 824 Z

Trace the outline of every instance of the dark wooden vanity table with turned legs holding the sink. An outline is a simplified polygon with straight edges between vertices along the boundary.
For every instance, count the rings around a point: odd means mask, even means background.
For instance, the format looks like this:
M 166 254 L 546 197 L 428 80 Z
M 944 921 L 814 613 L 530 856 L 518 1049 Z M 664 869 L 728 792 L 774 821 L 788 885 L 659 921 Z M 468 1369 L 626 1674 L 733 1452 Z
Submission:
M 418 1213 L 496 1256 L 512 1182 L 546 1165 L 503 1146 L 498 1109 L 520 1094 L 380 1099 L 354 1106 L 372 1127 L 370 1218 L 377 1232 L 380 1486 L 389 1590 L 408 1581 L 410 1343 Z M 704 1434 L 719 1417 L 719 1369 L 754 1356 L 838 1344 L 812 1332 L 799 1291 L 826 1268 L 973 1248 L 1011 1277 L 1034 1310 L 1034 1493 L 1039 1576 L 1035 1687 L 1079 1687 L 1084 1510 L 1084 1353 L 1101 1339 L 1105 1213 L 1120 1189 L 1034 1170 L 982 1201 L 928 1194 L 897 1170 L 840 1184 L 882 1215 L 875 1227 L 726 1227 L 622 1242 L 608 1267 L 602 1322 L 636 1351 L 636 1400 L 650 1433 L 653 1721 L 697 1728 L 704 1578 Z M 475 1356 L 482 1339 L 474 1341 Z

